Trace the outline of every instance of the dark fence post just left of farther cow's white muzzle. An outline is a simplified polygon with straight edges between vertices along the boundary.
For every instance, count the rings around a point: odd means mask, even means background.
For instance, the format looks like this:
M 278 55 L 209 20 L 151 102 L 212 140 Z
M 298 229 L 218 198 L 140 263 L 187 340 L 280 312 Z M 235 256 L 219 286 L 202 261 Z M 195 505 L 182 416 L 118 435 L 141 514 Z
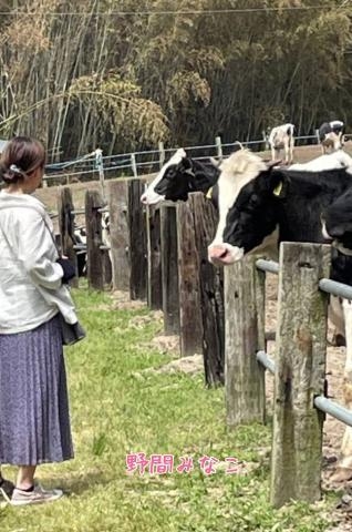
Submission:
M 141 180 L 128 182 L 128 227 L 130 227 L 130 295 L 131 299 L 146 299 L 147 260 L 146 228 L 141 195 L 144 184 Z

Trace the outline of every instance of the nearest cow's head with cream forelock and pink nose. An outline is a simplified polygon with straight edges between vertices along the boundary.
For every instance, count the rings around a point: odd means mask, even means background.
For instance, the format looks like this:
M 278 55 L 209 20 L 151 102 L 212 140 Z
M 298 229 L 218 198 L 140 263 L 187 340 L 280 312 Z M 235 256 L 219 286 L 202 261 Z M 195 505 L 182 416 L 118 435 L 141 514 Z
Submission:
M 248 151 L 237 152 L 222 163 L 218 186 L 219 223 L 208 258 L 227 265 L 267 244 L 275 232 L 275 206 L 284 195 L 284 174 Z

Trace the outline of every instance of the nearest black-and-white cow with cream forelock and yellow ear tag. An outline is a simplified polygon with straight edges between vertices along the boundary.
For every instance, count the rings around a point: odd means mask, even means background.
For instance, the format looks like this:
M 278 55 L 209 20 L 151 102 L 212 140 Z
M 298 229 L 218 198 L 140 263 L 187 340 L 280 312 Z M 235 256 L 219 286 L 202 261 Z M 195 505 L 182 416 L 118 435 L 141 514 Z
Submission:
M 333 205 L 339 207 L 343 197 L 352 198 L 350 168 L 317 172 L 268 168 L 259 156 L 242 151 L 222 162 L 220 171 L 219 223 L 215 239 L 208 247 L 211 263 L 228 265 L 259 250 L 277 258 L 279 243 L 283 241 L 328 242 L 327 234 L 324 237 L 322 233 L 321 217 L 325 219 L 327 233 L 339 236 L 343 231 L 345 241 L 342 242 L 350 244 L 350 226 L 345 224 L 339 229 L 339 225 L 332 223 L 332 214 L 335 215 Z M 352 256 L 332 249 L 331 278 L 352 284 Z M 337 298 L 333 300 L 337 303 Z M 349 335 L 352 335 L 352 306 L 346 300 L 342 305 L 346 335 L 344 396 L 346 406 L 351 408 L 352 337 L 349 338 Z M 341 319 L 341 307 L 338 310 Z M 334 325 L 341 327 L 339 316 L 330 314 L 330 317 Z M 340 471 L 352 475 L 351 428 L 345 431 L 342 457 Z

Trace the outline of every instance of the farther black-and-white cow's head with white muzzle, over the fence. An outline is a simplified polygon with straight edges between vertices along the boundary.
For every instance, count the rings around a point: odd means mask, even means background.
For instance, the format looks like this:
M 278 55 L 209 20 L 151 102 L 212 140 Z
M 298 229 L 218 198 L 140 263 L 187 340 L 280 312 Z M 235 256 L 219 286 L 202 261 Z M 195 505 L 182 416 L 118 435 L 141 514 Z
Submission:
M 156 205 L 165 200 L 186 201 L 191 192 L 207 194 L 219 174 L 218 164 L 213 158 L 196 161 L 188 157 L 184 149 L 179 149 L 142 194 L 141 202 L 144 205 Z M 214 203 L 215 196 L 216 194 L 211 195 Z

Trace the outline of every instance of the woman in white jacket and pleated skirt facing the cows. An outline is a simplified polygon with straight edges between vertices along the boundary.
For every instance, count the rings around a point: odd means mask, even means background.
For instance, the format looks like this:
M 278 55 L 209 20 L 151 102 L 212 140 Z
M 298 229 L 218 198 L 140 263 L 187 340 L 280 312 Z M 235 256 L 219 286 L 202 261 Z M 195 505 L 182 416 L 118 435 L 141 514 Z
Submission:
M 42 144 L 24 136 L 0 160 L 0 464 L 19 467 L 13 505 L 59 499 L 61 490 L 34 482 L 35 468 L 73 458 L 59 311 L 77 321 L 64 285 L 74 268 L 58 257 L 51 221 L 31 196 L 44 164 Z M 11 491 L 1 472 L 0 490 Z

